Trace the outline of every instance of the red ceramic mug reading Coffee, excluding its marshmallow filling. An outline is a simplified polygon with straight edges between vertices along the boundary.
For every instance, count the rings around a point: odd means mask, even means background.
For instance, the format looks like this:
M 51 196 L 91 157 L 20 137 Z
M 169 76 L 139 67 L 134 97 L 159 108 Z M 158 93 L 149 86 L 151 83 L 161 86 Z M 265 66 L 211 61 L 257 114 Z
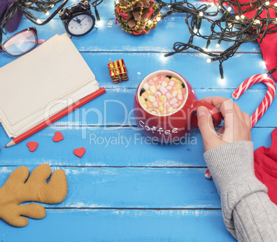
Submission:
M 186 98 L 183 104 L 170 114 L 153 114 L 143 107 L 140 94 L 143 85 L 153 77 L 160 74 L 170 77 L 176 77 L 183 82 L 186 88 Z M 183 86 L 184 86 L 183 85 Z M 222 115 L 213 105 L 198 101 L 196 93 L 192 85 L 184 79 L 180 74 L 172 70 L 157 70 L 148 74 L 139 84 L 134 97 L 134 118 L 139 129 L 152 138 L 153 141 L 158 142 L 178 142 L 185 134 L 190 132 L 197 126 L 196 110 L 200 106 L 205 106 L 212 114 L 214 125 L 218 126 L 221 123 Z

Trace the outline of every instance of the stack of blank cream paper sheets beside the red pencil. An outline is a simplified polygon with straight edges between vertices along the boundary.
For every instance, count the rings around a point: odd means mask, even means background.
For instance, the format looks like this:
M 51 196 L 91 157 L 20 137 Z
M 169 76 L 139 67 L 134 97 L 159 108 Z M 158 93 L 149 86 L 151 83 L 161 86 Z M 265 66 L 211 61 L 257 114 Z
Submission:
M 0 68 L 0 121 L 17 137 L 98 89 L 68 35 L 57 34 Z

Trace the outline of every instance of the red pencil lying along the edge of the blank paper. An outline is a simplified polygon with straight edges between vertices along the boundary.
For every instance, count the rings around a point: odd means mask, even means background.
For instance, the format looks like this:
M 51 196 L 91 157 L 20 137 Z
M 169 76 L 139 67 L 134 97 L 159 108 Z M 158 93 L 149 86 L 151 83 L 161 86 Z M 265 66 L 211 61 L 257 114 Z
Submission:
M 38 125 L 34 126 L 34 128 L 31 128 L 30 130 L 24 132 L 23 134 L 20 134 L 18 137 L 12 139 L 8 145 L 5 147 L 10 147 L 12 145 L 15 145 L 24 139 L 30 137 L 32 134 L 38 132 L 39 130 L 42 130 L 43 128 L 47 127 L 51 123 L 54 123 L 58 119 L 61 119 L 65 115 L 69 114 L 70 112 L 74 111 L 76 108 L 81 107 L 85 103 L 88 103 L 89 101 L 92 101 L 92 99 L 95 99 L 99 95 L 103 94 L 105 92 L 105 88 L 100 88 L 99 90 L 96 90 L 95 92 L 92 92 L 92 94 L 89 94 L 88 96 L 84 97 L 83 99 L 77 101 L 76 103 L 70 105 L 68 108 L 65 108 L 61 112 L 58 112 L 57 114 L 50 117 L 50 119 L 47 119 L 43 121 L 42 123 L 39 123 Z

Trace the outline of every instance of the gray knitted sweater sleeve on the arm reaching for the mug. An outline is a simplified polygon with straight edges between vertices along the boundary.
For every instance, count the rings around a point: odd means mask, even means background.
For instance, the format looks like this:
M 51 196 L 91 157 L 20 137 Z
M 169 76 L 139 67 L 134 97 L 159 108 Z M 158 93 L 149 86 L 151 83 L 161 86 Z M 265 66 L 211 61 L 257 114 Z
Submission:
M 277 206 L 254 174 L 251 141 L 236 141 L 204 153 L 221 198 L 223 220 L 238 241 L 277 241 Z

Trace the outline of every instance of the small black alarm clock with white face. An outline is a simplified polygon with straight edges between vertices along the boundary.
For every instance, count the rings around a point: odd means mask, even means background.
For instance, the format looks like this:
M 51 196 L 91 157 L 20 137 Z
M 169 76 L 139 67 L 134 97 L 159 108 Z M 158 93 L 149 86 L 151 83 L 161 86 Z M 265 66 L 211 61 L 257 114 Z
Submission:
M 88 34 L 95 26 L 95 18 L 88 1 L 73 3 L 63 8 L 59 11 L 59 17 L 65 23 L 66 32 L 72 36 Z

